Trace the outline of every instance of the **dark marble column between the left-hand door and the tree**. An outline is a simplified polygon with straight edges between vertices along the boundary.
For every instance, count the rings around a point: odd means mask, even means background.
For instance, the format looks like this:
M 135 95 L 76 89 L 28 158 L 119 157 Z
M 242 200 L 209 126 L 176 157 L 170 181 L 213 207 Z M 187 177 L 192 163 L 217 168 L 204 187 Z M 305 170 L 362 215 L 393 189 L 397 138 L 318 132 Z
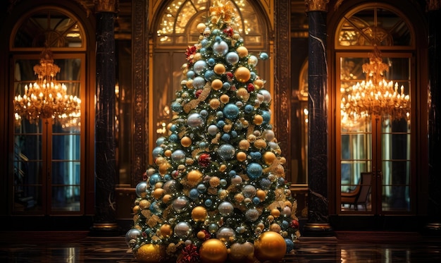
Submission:
M 115 154 L 115 2 L 97 1 L 97 66 L 95 108 L 95 214 L 92 234 L 118 233 L 116 224 Z

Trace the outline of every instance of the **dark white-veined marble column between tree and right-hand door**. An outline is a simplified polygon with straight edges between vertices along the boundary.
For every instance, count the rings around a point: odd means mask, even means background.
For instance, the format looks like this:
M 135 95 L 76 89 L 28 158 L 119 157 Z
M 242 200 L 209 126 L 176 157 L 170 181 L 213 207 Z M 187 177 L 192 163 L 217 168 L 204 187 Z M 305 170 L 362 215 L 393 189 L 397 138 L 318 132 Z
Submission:
M 303 236 L 334 236 L 328 212 L 328 1 L 306 0 L 309 19 L 308 221 Z

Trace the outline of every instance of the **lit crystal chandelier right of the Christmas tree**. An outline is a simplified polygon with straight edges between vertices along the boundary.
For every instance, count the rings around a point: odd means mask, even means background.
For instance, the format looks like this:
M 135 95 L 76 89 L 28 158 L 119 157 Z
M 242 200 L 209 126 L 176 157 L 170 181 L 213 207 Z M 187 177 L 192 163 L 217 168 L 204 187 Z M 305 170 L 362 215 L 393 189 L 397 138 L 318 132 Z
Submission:
M 409 94 L 404 94 L 404 87 L 399 88 L 398 83 L 385 80 L 385 71 L 389 71 L 389 66 L 383 63 L 375 45 L 373 53 L 369 54 L 369 62 L 363 64 L 366 80 L 357 82 L 342 97 L 342 123 L 356 126 L 368 116 L 386 116 L 392 121 L 409 118 Z

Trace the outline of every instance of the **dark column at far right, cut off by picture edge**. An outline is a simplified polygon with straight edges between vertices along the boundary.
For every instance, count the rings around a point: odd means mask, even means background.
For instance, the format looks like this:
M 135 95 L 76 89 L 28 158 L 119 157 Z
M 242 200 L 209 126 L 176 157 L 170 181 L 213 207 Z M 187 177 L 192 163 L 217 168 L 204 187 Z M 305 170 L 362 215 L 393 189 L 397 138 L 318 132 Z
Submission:
M 441 234 L 441 3 L 428 2 L 428 225 Z

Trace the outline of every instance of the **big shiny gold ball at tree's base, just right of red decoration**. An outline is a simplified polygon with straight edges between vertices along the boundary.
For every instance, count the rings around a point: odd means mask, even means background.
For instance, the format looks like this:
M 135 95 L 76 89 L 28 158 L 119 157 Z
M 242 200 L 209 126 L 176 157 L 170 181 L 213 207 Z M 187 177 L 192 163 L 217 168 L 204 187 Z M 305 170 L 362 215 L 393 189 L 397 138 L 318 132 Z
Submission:
M 202 263 L 223 263 L 228 257 L 228 250 L 221 240 L 211 238 L 202 243 L 199 256 Z

